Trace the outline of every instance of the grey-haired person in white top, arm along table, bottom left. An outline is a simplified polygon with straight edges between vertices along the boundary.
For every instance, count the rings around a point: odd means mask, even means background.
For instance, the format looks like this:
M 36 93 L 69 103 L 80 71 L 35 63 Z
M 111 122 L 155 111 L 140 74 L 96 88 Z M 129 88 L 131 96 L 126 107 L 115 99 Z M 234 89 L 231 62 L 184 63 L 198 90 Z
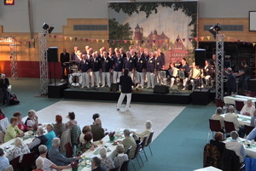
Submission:
M 70 165 L 57 166 L 57 165 L 55 165 L 55 163 L 50 162 L 50 160 L 48 158 L 46 158 L 46 156 L 47 156 L 47 147 L 46 147 L 46 145 L 40 145 L 38 147 L 38 151 L 40 153 L 40 156 L 37 158 L 37 160 L 41 160 L 41 159 L 44 160 L 42 170 L 51 171 L 52 169 L 62 170 L 62 169 L 65 169 L 65 168 L 71 168 Z

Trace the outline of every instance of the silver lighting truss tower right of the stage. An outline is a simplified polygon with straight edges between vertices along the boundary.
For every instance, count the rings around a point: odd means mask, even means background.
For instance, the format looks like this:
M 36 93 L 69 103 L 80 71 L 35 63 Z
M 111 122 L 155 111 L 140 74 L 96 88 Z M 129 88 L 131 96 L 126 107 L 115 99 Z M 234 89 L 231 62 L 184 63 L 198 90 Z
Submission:
M 224 35 L 216 35 L 216 95 L 215 98 L 223 100 L 224 95 Z

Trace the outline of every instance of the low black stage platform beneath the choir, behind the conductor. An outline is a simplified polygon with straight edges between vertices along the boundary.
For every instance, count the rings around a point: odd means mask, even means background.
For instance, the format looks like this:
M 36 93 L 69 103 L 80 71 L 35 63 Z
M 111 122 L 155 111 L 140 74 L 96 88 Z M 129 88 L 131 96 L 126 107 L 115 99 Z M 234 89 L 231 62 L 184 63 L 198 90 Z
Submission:
M 137 91 L 138 90 L 138 91 Z M 155 94 L 154 89 L 133 88 L 131 101 L 154 102 L 168 104 L 189 104 L 192 101 L 192 91 L 170 90 L 169 94 Z M 141 91 L 141 92 L 140 92 Z M 79 100 L 113 100 L 119 99 L 120 92 L 110 92 L 109 88 L 67 88 L 64 89 L 65 99 Z

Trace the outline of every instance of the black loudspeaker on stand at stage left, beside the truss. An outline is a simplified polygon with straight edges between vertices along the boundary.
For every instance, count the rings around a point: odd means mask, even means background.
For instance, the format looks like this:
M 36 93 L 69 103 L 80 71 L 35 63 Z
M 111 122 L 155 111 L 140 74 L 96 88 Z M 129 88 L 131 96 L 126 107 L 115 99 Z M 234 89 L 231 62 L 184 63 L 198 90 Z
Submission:
M 49 47 L 47 50 L 47 60 L 48 62 L 54 63 L 54 74 L 55 72 L 55 62 L 58 62 L 58 48 L 57 47 Z M 49 83 L 51 84 L 51 69 L 49 63 Z M 56 74 L 55 74 L 55 85 L 56 85 Z

